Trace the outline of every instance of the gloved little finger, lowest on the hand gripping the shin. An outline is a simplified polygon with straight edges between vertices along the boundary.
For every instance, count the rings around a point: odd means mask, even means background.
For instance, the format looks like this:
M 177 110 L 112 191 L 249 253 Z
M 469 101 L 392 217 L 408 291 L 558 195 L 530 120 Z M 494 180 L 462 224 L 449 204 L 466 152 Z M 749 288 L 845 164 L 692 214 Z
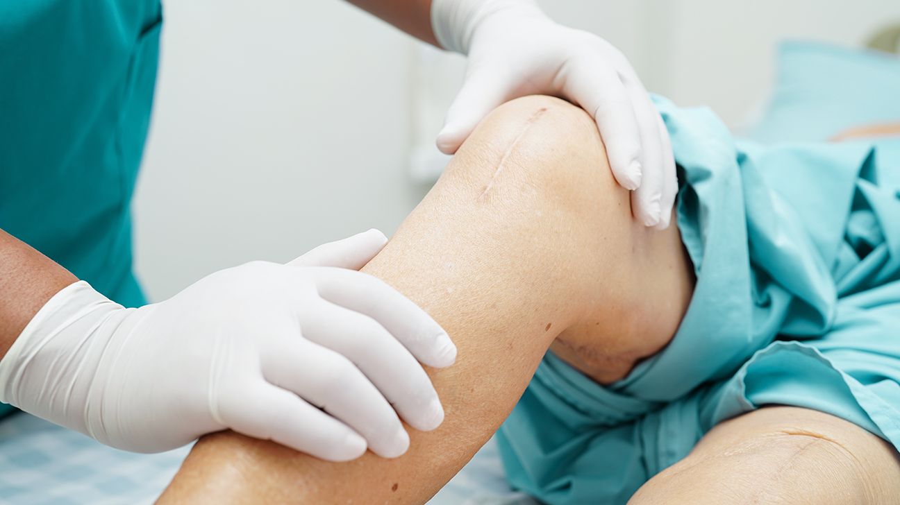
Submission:
M 365 453 L 365 439 L 354 430 L 262 379 L 221 398 L 220 417 L 238 433 L 328 461 L 349 461 Z

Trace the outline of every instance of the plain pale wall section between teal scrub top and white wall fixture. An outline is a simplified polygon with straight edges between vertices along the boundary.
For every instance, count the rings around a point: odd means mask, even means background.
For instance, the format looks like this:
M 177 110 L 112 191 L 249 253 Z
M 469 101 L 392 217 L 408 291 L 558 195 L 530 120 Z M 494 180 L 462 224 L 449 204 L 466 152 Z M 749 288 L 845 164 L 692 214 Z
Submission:
M 406 175 L 412 42 L 338 1 L 169 1 L 135 201 L 152 299 L 253 259 L 391 233 Z

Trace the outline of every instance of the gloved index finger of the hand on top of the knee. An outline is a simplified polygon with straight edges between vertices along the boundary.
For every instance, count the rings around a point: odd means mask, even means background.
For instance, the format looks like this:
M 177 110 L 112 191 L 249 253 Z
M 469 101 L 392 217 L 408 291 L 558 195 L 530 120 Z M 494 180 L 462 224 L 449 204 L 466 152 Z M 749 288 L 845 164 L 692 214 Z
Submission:
M 641 131 L 632 97 L 603 61 L 575 60 L 570 68 L 563 93 L 597 121 L 616 181 L 627 190 L 637 189 L 644 180 L 644 166 L 639 159 Z

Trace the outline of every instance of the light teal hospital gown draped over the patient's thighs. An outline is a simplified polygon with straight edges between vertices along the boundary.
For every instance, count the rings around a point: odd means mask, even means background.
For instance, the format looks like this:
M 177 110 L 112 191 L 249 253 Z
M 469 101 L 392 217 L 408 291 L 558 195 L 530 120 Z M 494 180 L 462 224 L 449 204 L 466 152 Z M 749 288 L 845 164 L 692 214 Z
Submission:
M 736 141 L 657 100 L 697 284 L 670 345 L 601 386 L 545 356 L 498 433 L 515 488 L 624 503 L 716 423 L 828 412 L 900 447 L 900 141 Z

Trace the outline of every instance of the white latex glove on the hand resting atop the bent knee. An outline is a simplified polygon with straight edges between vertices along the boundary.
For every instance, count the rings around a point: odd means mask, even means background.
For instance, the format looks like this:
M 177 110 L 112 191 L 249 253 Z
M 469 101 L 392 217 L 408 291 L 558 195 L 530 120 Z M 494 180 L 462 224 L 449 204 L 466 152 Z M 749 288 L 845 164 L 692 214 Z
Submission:
M 453 154 L 484 116 L 527 94 L 577 103 L 597 121 L 617 182 L 646 226 L 669 226 L 678 191 L 669 133 L 628 60 L 606 40 L 559 25 L 534 0 L 432 0 L 438 42 L 468 56 L 438 148 Z

